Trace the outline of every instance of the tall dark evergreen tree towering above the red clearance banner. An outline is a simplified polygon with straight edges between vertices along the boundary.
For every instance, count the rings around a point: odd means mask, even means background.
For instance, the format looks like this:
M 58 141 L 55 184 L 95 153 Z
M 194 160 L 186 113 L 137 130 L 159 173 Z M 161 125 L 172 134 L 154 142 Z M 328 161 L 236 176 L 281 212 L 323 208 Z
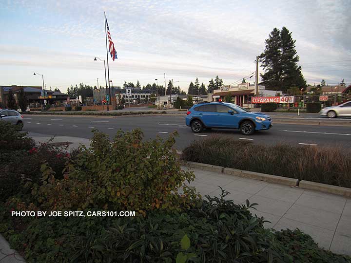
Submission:
M 274 28 L 265 41 L 266 47 L 259 60 L 265 72 L 261 74 L 262 84 L 268 89 L 286 92 L 292 85 L 306 87 L 301 67 L 297 66 L 296 40 L 291 35 L 286 27 L 281 31 Z

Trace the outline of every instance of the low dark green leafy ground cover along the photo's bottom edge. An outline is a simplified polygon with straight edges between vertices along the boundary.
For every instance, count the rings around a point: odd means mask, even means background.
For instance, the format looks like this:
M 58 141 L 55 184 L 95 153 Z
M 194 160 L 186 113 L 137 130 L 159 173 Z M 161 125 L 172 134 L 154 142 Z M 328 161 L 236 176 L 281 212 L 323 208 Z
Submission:
M 235 205 L 225 200 L 227 194 L 206 196 L 181 212 L 118 219 L 42 217 L 22 229 L 9 222 L 9 208 L 0 204 L 0 230 L 28 263 L 351 263 L 348 256 L 318 248 L 299 230 L 265 229 L 267 221 L 249 211 L 255 204 Z

